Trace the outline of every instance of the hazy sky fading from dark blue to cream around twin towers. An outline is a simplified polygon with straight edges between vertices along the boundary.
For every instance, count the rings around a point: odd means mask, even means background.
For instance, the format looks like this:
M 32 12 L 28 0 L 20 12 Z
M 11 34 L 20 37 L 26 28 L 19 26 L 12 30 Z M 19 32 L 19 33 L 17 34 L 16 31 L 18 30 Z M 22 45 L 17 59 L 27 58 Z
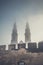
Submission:
M 43 0 L 0 0 L 0 44 L 9 44 L 14 22 L 18 40 L 24 41 L 28 21 L 32 41 L 43 40 Z

